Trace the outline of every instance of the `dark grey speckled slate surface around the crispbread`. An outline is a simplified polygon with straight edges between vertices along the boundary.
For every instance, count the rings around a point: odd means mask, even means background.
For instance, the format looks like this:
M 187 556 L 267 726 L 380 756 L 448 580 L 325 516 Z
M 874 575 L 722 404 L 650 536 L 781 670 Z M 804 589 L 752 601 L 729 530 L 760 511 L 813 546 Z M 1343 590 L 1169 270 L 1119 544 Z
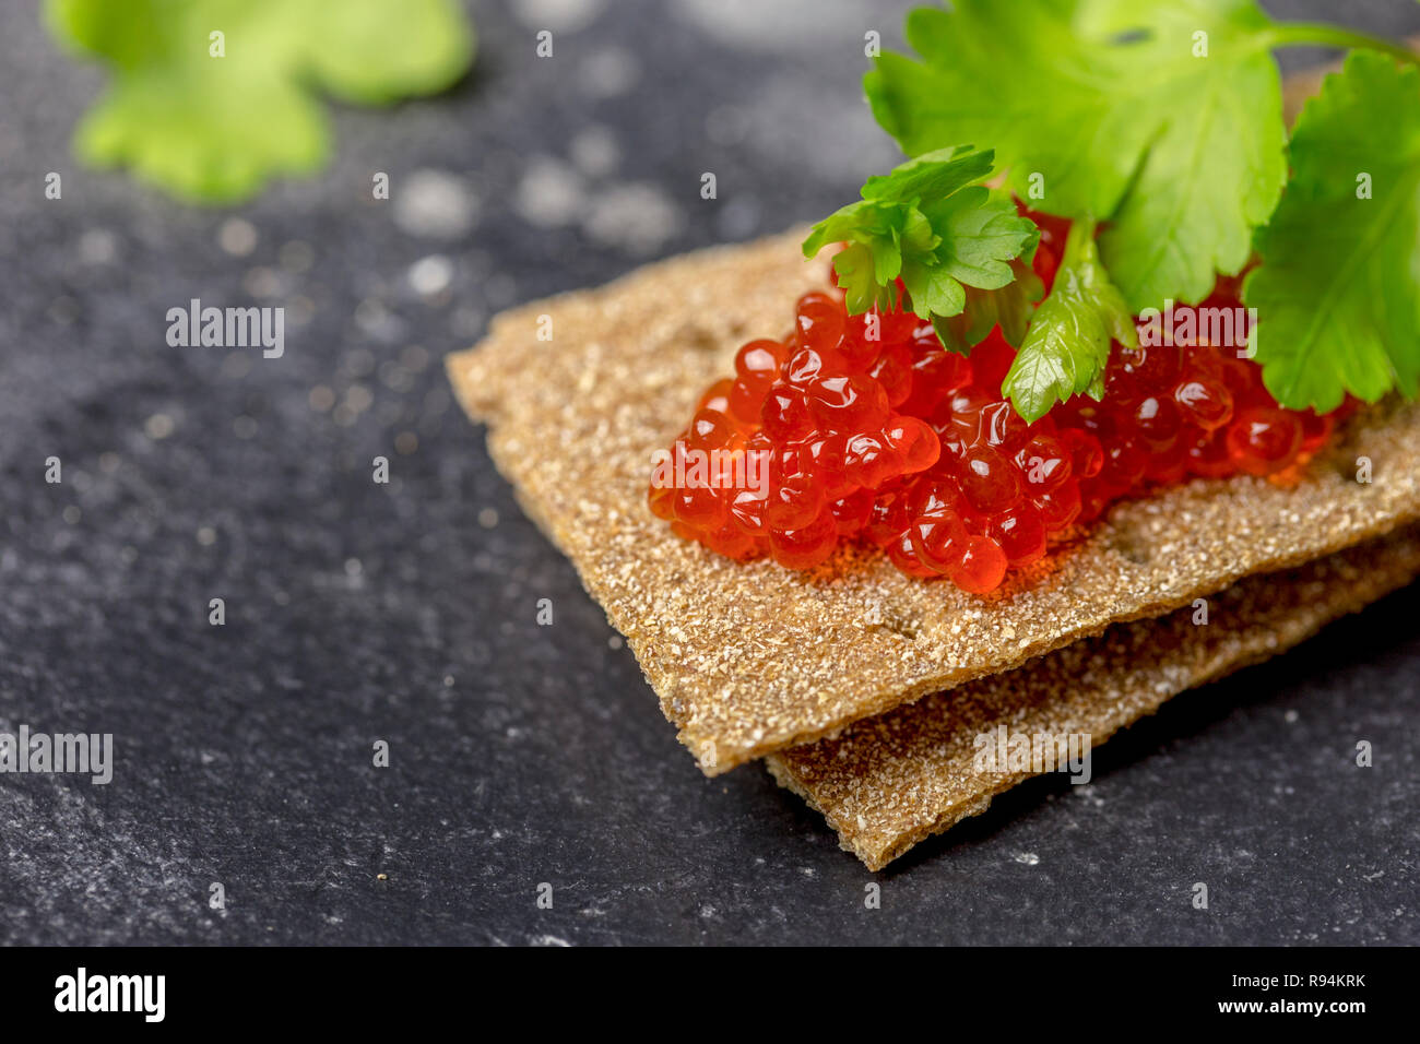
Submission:
M 466 84 L 332 109 L 325 173 L 236 210 L 71 161 L 104 75 L 36 6 L 0 6 L 0 729 L 111 732 L 116 768 L 0 777 L 0 942 L 1420 942 L 1420 589 L 875 878 L 757 767 L 700 776 L 452 403 L 496 310 L 889 166 L 858 74 L 906 4 L 477 3 Z M 169 348 L 190 297 L 285 305 L 285 357 Z

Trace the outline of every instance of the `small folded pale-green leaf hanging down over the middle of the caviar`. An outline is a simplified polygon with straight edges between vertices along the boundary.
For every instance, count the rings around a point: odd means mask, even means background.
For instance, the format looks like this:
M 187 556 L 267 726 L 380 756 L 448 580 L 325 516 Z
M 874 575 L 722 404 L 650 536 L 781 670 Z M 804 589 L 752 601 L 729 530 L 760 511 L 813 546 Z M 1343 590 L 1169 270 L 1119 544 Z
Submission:
M 1039 420 L 1056 402 L 1105 395 L 1109 347 L 1137 345 L 1133 315 L 1109 281 L 1095 243 L 1095 223 L 1078 220 L 1065 240 L 1055 286 L 1035 310 L 1001 393 L 1027 420 Z

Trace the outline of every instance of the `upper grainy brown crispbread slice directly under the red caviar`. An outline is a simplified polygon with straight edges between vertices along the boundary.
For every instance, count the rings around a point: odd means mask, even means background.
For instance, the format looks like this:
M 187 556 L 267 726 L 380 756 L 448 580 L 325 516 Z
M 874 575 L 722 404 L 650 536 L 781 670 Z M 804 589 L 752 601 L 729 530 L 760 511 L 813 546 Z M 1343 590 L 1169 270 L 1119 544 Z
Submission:
M 991 598 L 879 555 L 845 553 L 809 575 L 720 558 L 648 510 L 652 453 L 731 372 L 736 348 L 781 334 L 824 281 L 801 239 L 706 250 L 524 305 L 447 364 L 528 514 L 626 635 L 710 774 L 1420 517 L 1420 408 L 1392 403 L 1352 423 L 1294 490 L 1241 477 L 1122 504 Z M 1356 482 L 1359 456 L 1373 483 Z

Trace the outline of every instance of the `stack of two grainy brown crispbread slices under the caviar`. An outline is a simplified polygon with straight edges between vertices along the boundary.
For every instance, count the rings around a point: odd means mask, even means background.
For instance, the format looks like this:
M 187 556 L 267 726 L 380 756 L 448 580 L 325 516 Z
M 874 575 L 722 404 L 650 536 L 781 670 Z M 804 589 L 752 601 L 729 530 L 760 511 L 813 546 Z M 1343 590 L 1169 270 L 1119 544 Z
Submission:
M 988 598 L 878 555 L 797 574 L 680 540 L 646 507 L 652 455 L 738 345 L 826 278 L 802 237 L 504 312 L 449 374 L 701 768 L 768 756 L 869 866 L 1022 778 L 973 770 L 995 723 L 1098 744 L 1420 572 L 1420 408 L 1399 402 L 1353 418 L 1295 489 L 1238 477 L 1123 503 Z

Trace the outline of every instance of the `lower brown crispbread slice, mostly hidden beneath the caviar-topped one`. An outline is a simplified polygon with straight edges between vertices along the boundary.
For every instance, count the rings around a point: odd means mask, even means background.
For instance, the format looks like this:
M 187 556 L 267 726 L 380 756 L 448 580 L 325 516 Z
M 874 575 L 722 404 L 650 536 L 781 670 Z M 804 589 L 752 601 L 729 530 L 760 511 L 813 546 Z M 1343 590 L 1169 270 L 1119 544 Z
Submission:
M 1420 574 L 1420 528 L 1210 599 L 1208 622 L 1183 608 L 1105 634 L 859 722 L 839 736 L 771 754 L 774 777 L 819 810 L 843 848 L 882 869 L 919 841 L 1037 774 L 977 771 L 977 736 L 1085 733 L 1098 746 L 1172 696 L 1302 642 L 1328 622 Z

